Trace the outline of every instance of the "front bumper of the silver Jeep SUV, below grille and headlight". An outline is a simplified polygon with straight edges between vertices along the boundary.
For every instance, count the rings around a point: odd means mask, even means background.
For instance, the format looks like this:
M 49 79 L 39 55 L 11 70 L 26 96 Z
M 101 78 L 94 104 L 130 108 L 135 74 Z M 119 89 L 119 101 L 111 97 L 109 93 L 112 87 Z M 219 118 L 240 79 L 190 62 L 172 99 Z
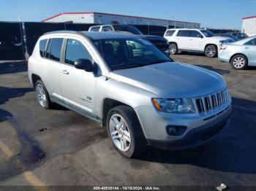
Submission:
M 230 104 L 219 109 L 211 117 L 157 113 L 149 106 L 135 108 L 135 112 L 148 144 L 161 149 L 187 149 L 210 141 L 229 125 L 232 112 Z M 167 125 L 186 126 L 187 130 L 181 136 L 170 136 L 167 133 Z

